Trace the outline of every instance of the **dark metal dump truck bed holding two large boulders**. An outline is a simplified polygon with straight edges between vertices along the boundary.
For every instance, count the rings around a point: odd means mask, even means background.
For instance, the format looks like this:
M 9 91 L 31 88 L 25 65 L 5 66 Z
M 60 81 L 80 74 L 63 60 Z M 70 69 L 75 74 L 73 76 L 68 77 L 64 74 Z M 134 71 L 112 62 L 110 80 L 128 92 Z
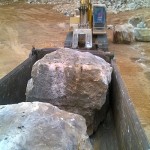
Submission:
M 24 102 L 26 85 L 31 78 L 33 64 L 56 49 L 33 49 L 29 58 L 2 78 L 0 80 L 0 105 Z M 103 57 L 99 51 L 89 50 L 89 52 Z M 90 137 L 94 149 L 148 150 L 149 141 L 136 115 L 116 62 L 113 59 L 107 61 L 111 61 L 113 67 L 109 95 L 110 108 L 105 121 Z

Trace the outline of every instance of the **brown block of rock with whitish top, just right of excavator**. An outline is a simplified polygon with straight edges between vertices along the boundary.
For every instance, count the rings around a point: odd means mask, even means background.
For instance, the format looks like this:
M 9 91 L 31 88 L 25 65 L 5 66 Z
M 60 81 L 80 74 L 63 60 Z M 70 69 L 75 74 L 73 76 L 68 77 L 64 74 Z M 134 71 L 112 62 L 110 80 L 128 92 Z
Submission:
M 134 41 L 134 27 L 131 24 L 116 25 L 113 32 L 114 43 L 131 44 Z

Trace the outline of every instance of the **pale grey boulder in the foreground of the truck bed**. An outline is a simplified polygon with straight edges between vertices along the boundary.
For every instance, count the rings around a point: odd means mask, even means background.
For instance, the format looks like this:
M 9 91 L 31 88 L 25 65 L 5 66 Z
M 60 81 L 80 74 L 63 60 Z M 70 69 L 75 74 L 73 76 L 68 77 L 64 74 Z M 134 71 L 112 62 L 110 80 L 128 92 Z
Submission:
M 48 103 L 0 106 L 0 150 L 91 150 L 85 119 Z

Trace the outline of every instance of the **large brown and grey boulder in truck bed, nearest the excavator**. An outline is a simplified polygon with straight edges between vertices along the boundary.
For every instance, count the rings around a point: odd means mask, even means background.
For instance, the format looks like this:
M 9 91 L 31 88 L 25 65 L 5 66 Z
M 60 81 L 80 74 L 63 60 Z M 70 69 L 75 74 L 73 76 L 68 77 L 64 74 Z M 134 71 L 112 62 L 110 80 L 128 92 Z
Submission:
M 100 57 L 62 48 L 34 64 L 26 100 L 49 102 L 84 116 L 88 134 L 92 134 L 105 117 L 103 113 L 94 121 L 106 101 L 111 72 L 110 64 Z

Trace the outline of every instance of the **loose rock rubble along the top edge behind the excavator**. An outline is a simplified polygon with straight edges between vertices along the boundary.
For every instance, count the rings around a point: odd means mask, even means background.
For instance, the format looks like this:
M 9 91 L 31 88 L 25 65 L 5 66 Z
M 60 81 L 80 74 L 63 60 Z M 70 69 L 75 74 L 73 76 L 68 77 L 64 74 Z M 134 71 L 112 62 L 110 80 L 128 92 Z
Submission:
M 105 4 L 108 11 L 119 12 L 150 7 L 149 0 L 92 0 L 92 3 Z M 67 16 L 75 14 L 80 5 L 80 0 L 28 0 L 28 3 L 46 3 L 55 5 L 53 9 Z

